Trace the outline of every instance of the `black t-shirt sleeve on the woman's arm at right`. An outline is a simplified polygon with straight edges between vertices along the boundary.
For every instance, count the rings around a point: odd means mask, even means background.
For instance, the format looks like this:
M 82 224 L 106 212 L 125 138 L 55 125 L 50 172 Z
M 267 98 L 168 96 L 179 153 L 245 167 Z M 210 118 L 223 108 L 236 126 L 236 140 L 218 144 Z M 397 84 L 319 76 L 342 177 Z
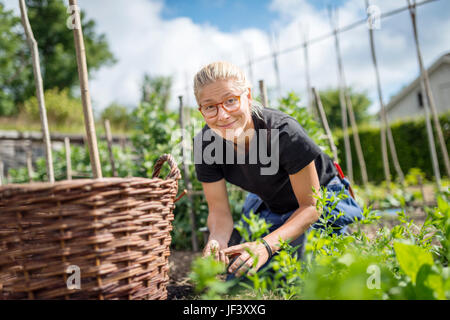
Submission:
M 297 120 L 287 118 L 285 121 L 280 128 L 280 166 L 288 174 L 294 174 L 314 161 L 322 151 Z

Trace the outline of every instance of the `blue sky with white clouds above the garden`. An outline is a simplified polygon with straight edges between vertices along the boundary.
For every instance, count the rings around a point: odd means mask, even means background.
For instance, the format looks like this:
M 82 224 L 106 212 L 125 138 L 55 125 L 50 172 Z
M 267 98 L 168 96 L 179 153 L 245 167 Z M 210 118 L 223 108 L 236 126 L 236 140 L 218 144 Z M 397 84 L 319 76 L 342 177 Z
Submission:
M 67 3 L 67 0 L 64 0 Z M 421 0 L 418 0 L 421 2 Z M 406 0 L 372 0 L 381 13 L 404 7 Z M 327 7 L 337 8 L 340 27 L 365 19 L 364 0 L 78 0 L 88 16 L 96 21 L 96 31 L 104 33 L 118 62 L 104 67 L 90 79 L 94 110 L 112 102 L 133 108 L 141 97 L 145 73 L 172 76 L 171 108 L 177 108 L 179 95 L 195 105 L 192 82 L 205 64 L 228 60 L 241 66 L 247 75 L 252 64 L 254 91 L 264 79 L 271 100 L 278 96 L 273 48 L 284 50 L 309 39 L 328 34 Z M 6 6 L 19 12 L 17 1 Z M 450 52 L 450 0 L 437 0 L 417 9 L 419 41 L 425 65 Z M 69 31 L 69 30 L 68 30 Z M 70 31 L 69 31 L 70 32 Z M 277 41 L 271 35 L 277 34 Z M 418 64 L 409 13 L 390 16 L 374 30 L 380 68 L 383 100 L 418 76 Z M 370 111 L 379 110 L 375 74 L 370 56 L 368 28 L 362 24 L 339 35 L 346 82 L 366 91 L 373 101 Z M 297 92 L 306 98 L 303 50 L 278 56 L 281 94 Z M 318 90 L 338 87 L 334 39 L 309 46 L 311 82 Z M 302 103 L 306 105 L 306 100 Z

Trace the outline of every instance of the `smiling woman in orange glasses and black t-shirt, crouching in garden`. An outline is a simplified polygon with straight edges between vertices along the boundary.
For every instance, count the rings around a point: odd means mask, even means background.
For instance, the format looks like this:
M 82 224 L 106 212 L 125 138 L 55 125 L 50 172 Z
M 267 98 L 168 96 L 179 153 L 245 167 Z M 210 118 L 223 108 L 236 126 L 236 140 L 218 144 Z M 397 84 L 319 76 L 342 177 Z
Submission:
M 194 78 L 194 93 L 206 122 L 194 138 L 196 174 L 209 210 L 204 256 L 213 247 L 216 258 L 226 264 L 237 256 L 228 268 L 236 275 L 255 272 L 268 263 L 279 249 L 280 238 L 300 245 L 301 256 L 305 232 L 319 219 L 312 190 L 320 186 L 329 192 L 344 189 L 348 195 L 332 211 L 344 213 L 333 222 L 336 232 L 342 233 L 355 217 L 362 219 L 361 208 L 348 192 L 349 183 L 339 178 L 333 161 L 293 117 L 253 101 L 240 68 L 228 62 L 203 67 Z M 234 222 L 225 181 L 249 192 L 244 216 L 253 211 L 272 224 L 260 241 L 229 246 Z

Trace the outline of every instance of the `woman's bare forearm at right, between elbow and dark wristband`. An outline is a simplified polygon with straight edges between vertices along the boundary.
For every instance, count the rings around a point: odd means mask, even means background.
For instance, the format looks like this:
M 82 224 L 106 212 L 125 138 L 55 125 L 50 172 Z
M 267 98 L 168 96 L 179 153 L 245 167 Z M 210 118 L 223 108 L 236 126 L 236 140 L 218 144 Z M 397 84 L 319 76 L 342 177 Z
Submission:
M 302 206 L 298 208 L 289 219 L 278 229 L 264 237 L 272 252 L 279 249 L 279 239 L 293 241 L 300 237 L 314 222 L 319 219 L 315 206 Z

